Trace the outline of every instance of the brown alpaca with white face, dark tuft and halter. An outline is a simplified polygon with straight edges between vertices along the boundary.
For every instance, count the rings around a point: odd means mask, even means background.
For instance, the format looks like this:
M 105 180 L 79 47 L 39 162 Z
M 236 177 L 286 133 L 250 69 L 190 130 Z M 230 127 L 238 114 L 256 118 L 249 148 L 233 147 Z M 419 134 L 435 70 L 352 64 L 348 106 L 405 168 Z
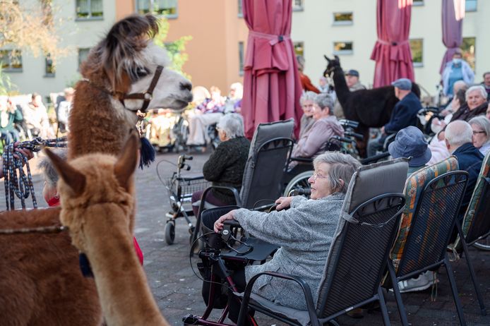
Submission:
M 92 49 L 68 121 L 69 159 L 119 154 L 143 105 L 141 99 L 123 98 L 146 92 L 157 66 L 164 68 L 148 109 L 180 109 L 191 101 L 189 80 L 167 69 L 165 49 L 151 41 L 156 32 L 153 16 L 129 16 Z M 131 215 L 131 231 L 133 223 Z M 59 224 L 59 209 L 0 214 L 2 229 L 53 224 Z M 0 325 L 101 324 L 95 283 L 81 276 L 78 250 L 67 234 L 0 236 L 0 248 Z

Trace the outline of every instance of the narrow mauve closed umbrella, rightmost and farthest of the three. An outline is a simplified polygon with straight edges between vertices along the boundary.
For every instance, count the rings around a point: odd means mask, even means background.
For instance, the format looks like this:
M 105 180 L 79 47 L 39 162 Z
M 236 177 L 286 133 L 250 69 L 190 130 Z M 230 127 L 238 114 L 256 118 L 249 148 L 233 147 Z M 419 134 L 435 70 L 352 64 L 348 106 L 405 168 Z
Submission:
M 448 48 L 443 56 L 441 64 L 441 74 L 446 63 L 453 59 L 456 50 L 462 44 L 462 20 L 465 18 L 464 0 L 443 0 L 442 23 L 443 23 L 443 43 Z

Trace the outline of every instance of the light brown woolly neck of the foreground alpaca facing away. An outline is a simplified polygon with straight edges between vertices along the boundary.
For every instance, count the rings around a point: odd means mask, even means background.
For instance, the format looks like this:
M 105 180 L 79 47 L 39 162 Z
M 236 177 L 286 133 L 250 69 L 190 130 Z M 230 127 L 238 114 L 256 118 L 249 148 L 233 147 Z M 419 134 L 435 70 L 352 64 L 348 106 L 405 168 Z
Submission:
M 95 276 L 107 325 L 168 325 L 153 299 L 143 268 L 135 255 L 128 223 L 131 209 L 104 203 L 83 210 L 97 216 L 85 222 L 80 238 Z M 81 216 L 77 214 L 78 216 Z

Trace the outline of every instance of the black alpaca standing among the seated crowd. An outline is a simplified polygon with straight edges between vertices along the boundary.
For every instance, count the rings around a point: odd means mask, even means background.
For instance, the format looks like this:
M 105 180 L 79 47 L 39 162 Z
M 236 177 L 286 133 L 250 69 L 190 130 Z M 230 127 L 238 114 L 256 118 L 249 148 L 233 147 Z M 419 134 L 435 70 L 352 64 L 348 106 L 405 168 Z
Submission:
M 357 147 L 361 157 L 365 157 L 369 127 L 381 128 L 384 126 L 390 120 L 391 111 L 393 111 L 395 104 L 398 102 L 398 98 L 395 97 L 395 87 L 384 86 L 371 90 L 351 92 L 345 82 L 344 71 L 340 66 L 339 57 L 335 56 L 335 59 L 324 57 L 328 61 L 328 65 L 323 72 L 323 76 L 331 76 L 333 73 L 335 93 L 340 105 L 342 105 L 345 119 L 359 121 L 357 132 L 364 135 L 364 141 L 358 141 Z M 415 83 L 412 83 L 412 92 L 417 97 L 420 97 L 419 86 Z

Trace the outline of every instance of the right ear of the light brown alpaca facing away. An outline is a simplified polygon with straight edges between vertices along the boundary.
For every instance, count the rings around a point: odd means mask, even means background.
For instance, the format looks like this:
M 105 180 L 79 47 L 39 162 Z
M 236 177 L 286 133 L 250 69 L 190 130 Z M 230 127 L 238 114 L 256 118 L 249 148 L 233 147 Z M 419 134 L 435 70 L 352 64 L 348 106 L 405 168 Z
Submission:
M 138 135 L 136 132 L 131 133 L 114 165 L 114 174 L 116 174 L 117 181 L 126 190 L 129 187 L 129 178 L 133 175 L 136 164 L 138 164 L 139 145 Z

